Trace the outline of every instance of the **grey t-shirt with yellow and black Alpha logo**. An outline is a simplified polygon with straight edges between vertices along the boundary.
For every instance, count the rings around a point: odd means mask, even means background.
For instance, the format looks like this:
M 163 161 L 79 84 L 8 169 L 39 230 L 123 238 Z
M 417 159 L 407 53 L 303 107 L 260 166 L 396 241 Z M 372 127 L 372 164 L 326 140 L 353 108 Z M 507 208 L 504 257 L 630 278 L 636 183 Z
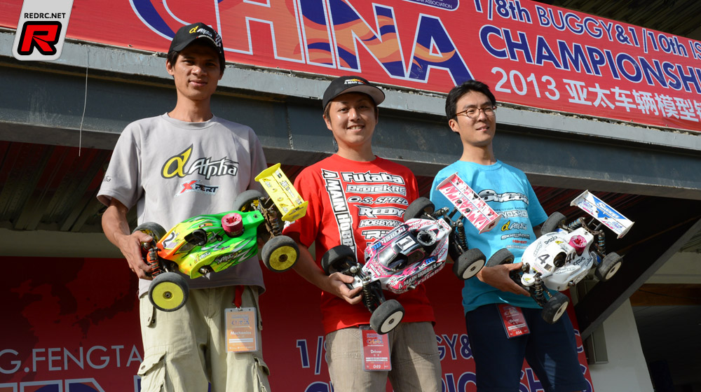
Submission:
M 250 127 L 216 116 L 187 123 L 166 113 L 125 127 L 97 199 L 109 205 L 114 197 L 128 208 L 136 206 L 139 224 L 155 222 L 170 230 L 192 216 L 230 211 L 236 195 L 261 190 L 254 178 L 266 167 Z M 139 295 L 149 283 L 139 281 Z M 257 256 L 188 283 L 190 288 L 241 284 L 264 290 Z

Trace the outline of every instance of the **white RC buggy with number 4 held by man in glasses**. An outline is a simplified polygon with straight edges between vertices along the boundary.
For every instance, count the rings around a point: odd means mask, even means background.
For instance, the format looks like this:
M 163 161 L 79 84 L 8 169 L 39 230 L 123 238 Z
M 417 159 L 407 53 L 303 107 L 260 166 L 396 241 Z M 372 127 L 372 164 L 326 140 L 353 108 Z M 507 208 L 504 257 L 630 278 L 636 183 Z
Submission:
M 606 253 L 606 235 L 602 226 L 611 228 L 620 238 L 633 225 L 632 221 L 588 191 L 576 197 L 571 205 L 580 207 L 594 218 L 586 222 L 581 217 L 566 224 L 565 216 L 554 212 L 543 223 L 542 235 L 525 249 L 522 268 L 511 273 L 511 278 L 527 288 L 533 300 L 543 307 L 543 319 L 548 323 L 557 322 L 569 304 L 569 298 L 560 291 L 575 286 L 592 269 L 599 281 L 608 281 L 620 268 L 620 255 Z M 599 224 L 595 225 L 595 221 Z M 487 266 L 513 260 L 510 251 L 500 249 L 489 259 Z

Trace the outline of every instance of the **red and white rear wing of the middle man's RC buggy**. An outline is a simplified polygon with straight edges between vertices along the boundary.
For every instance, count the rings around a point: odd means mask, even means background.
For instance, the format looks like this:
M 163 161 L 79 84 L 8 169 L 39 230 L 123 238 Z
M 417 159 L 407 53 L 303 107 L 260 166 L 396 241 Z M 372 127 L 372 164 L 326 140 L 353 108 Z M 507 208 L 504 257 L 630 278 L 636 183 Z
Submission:
M 501 214 L 496 214 L 457 173 L 441 181 L 436 189 L 479 230 L 479 234 L 493 229 L 501 219 Z

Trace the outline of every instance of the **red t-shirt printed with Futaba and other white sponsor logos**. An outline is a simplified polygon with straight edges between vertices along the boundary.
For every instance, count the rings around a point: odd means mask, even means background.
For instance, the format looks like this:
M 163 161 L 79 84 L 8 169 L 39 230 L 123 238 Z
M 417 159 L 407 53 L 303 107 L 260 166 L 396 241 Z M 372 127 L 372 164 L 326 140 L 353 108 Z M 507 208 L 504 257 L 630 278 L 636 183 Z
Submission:
M 365 246 L 403 223 L 404 210 L 418 197 L 414 174 L 383 158 L 356 162 L 332 155 L 304 169 L 294 187 L 309 205 L 306 215 L 288 224 L 283 234 L 304 246 L 315 243 L 319 266 L 324 253 L 339 244 L 355 249 L 358 260 L 365 260 Z M 404 306 L 402 322 L 435 323 L 423 285 L 400 295 L 388 291 L 384 295 Z M 325 333 L 370 321 L 362 302 L 351 305 L 324 291 L 321 313 Z

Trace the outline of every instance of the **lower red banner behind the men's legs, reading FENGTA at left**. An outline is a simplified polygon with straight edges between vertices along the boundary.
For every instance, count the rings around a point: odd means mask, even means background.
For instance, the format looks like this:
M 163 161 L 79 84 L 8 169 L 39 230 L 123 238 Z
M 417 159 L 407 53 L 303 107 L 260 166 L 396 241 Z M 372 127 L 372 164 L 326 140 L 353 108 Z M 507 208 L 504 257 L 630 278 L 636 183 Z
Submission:
M 0 263 L 32 266 L 23 277 L 0 276 L 6 304 L 0 392 L 139 391 L 136 373 L 143 346 L 137 279 L 125 260 L 0 257 Z M 262 347 L 271 369 L 271 389 L 332 392 L 318 289 L 296 272 L 263 269 L 267 290 L 260 298 Z M 461 305 L 463 282 L 448 266 L 424 284 L 437 319 L 442 390 L 475 392 L 475 363 Z M 593 392 L 579 336 L 577 343 L 590 384 L 586 392 Z M 540 391 L 540 381 L 524 364 L 519 392 Z

